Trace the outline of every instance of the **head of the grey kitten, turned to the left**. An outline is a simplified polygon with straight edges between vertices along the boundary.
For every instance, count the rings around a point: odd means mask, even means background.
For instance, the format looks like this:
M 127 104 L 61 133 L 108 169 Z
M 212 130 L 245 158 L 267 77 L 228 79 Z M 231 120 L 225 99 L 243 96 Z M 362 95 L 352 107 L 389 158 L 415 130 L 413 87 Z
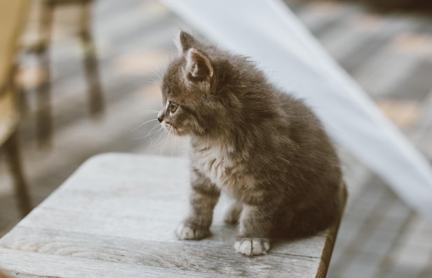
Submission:
M 212 46 L 204 45 L 192 35 L 180 32 L 179 57 L 171 61 L 161 84 L 162 108 L 157 119 L 178 135 L 205 135 L 217 126 L 217 115 L 224 109 L 215 91 L 215 61 Z

